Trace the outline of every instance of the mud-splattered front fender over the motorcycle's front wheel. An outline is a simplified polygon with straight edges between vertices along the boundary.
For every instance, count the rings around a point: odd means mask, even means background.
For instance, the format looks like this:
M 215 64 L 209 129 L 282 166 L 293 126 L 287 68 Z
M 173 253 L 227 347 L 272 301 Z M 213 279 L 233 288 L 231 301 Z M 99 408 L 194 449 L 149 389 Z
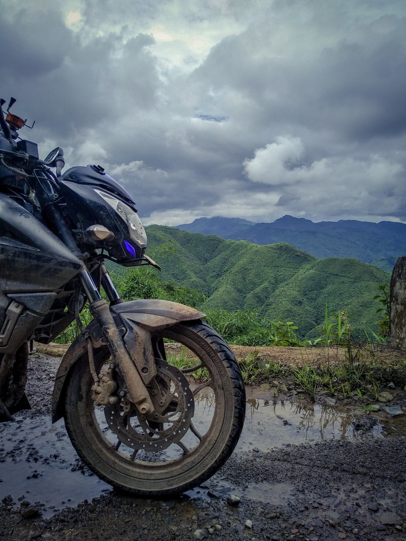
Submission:
M 181 321 L 194 321 L 204 318 L 206 314 L 189 306 L 181 305 L 178 302 L 162 301 L 158 299 L 140 299 L 128 302 L 121 302 L 110 306 L 113 318 L 117 327 L 125 327 L 124 341 L 127 349 L 134 359 L 134 354 L 143 351 L 141 364 L 149 366 L 153 362 L 150 357 L 148 344 L 137 344 L 135 338 L 140 336 L 137 329 L 143 329 L 141 334 L 152 333 L 160 329 L 171 327 Z M 102 338 L 101 330 L 96 321 L 92 321 L 86 327 L 88 333 L 97 341 Z M 87 340 L 82 335 L 72 342 L 64 355 L 60 367 L 56 373 L 54 392 L 52 397 L 52 422 L 55 423 L 64 414 L 64 398 L 66 391 L 67 375 L 76 362 L 87 353 Z M 86 357 L 87 362 L 87 357 Z M 139 363 L 137 363 L 139 365 Z M 150 371 L 152 372 L 152 371 Z

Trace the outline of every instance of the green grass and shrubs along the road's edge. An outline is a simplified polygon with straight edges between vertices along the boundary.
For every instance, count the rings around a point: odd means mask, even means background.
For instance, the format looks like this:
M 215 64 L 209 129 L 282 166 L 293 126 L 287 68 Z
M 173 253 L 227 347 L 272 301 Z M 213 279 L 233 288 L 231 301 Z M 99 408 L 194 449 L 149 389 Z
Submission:
M 141 272 L 140 272 L 141 271 Z M 376 401 L 385 401 L 384 387 L 387 380 L 395 380 L 397 385 L 406 384 L 406 360 L 403 362 L 383 363 L 376 354 L 377 348 L 386 347 L 389 340 L 389 286 L 387 283 L 376 286 L 374 299 L 378 301 L 377 331 L 364 329 L 364 339 L 354 340 L 352 336 L 351 316 L 346 309 L 330 313 L 328 304 L 324 308 L 323 324 L 317 328 L 314 338 L 298 338 L 298 327 L 293 321 L 272 321 L 258 311 L 225 309 L 206 309 L 204 295 L 196 289 L 175 285 L 172 281 L 162 281 L 152 268 L 134 269 L 123 275 L 115 275 L 114 281 L 123 299 L 156 298 L 180 302 L 205 312 L 206 321 L 229 344 L 303 348 L 302 359 L 306 359 L 309 348 L 319 348 L 323 352 L 323 362 L 313 366 L 311 361 L 300 366 L 283 365 L 279 361 L 259 355 L 258 349 L 247 353 L 240 359 L 241 373 L 246 385 L 270 385 L 275 397 L 288 390 L 289 384 L 302 390 L 307 397 L 314 399 L 317 393 L 331 397 L 355 398 L 369 411 Z M 81 314 L 86 325 L 90 314 L 85 307 Z M 57 341 L 71 342 L 78 334 L 74 322 Z M 273 356 L 274 358 L 274 356 Z M 180 370 L 194 366 L 194 360 L 188 357 L 185 348 L 174 350 L 171 364 Z M 304 366 L 303 366 L 304 364 Z M 389 375 L 388 375 L 389 374 Z M 204 368 L 189 370 L 190 377 L 203 381 L 206 377 Z

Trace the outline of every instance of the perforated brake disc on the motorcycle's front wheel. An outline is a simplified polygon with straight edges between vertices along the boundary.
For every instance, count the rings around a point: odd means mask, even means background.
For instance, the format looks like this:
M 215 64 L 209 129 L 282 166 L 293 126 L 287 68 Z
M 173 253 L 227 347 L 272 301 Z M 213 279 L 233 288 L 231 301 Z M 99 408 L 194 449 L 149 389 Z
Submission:
M 152 413 L 141 414 L 126 399 L 104 407 L 110 430 L 134 450 L 165 450 L 184 437 L 194 414 L 194 397 L 185 375 L 162 360 L 156 360 L 156 370 L 147 387 L 154 405 Z

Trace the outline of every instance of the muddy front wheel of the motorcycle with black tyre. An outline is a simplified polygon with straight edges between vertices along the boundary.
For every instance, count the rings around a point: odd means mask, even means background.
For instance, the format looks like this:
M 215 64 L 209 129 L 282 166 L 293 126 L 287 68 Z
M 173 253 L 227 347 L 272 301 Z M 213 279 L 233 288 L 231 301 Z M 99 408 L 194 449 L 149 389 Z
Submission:
M 148 385 L 154 412 L 126 399 L 114 368 L 119 402 L 91 399 L 87 356 L 68 380 L 65 423 L 81 459 L 107 483 L 136 494 L 168 495 L 211 477 L 232 453 L 245 417 L 245 389 L 234 355 L 211 327 L 176 324 L 153 335 L 157 374 Z M 97 373 L 108 349 L 94 351 Z

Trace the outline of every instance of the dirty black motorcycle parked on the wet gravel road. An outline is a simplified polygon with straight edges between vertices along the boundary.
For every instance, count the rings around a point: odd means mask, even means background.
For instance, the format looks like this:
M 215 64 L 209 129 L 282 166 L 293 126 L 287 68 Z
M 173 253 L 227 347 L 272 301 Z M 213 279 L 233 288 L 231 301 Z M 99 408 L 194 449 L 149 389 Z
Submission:
M 18 135 L 34 124 L 10 112 L 15 101 L 5 112 L 0 101 L 0 420 L 29 408 L 30 341 L 48 344 L 76 320 L 53 423 L 64 418 L 78 456 L 114 487 L 162 496 L 198 486 L 243 428 L 237 361 L 197 309 L 120 298 L 106 260 L 159 267 L 132 197 L 99 165 L 62 174 L 61 148 L 41 160 Z

